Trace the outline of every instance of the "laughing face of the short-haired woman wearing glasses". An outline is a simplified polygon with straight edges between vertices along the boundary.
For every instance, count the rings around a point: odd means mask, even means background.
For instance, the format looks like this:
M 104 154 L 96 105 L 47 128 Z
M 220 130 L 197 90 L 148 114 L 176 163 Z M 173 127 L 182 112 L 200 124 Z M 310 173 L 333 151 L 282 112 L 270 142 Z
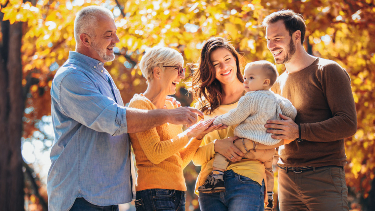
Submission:
M 182 63 L 178 63 L 176 65 L 171 66 L 180 66 L 182 67 Z M 166 95 L 173 95 L 176 93 L 176 87 L 181 80 L 185 79 L 185 74 L 182 75 L 178 74 L 177 67 L 164 67 L 164 71 L 160 76 L 161 81 L 160 84 L 162 86 L 162 91 L 166 92 Z

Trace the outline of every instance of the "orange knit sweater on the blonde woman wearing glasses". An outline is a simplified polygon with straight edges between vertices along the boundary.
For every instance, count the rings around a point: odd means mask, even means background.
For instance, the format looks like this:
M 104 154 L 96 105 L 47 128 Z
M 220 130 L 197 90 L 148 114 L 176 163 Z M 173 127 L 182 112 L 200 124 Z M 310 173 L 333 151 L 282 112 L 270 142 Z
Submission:
M 167 109 L 176 108 L 170 101 L 165 101 L 165 105 Z M 135 94 L 129 107 L 157 109 L 143 94 Z M 189 141 L 182 125 L 169 123 L 129 135 L 138 168 L 136 191 L 154 188 L 186 191 L 183 168 L 191 161 L 201 140 Z

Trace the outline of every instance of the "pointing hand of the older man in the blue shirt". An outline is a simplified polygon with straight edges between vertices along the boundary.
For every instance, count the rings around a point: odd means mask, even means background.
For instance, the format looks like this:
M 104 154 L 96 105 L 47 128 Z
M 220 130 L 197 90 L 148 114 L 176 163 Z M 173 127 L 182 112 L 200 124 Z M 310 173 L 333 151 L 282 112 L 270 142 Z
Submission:
M 186 124 L 186 126 L 195 124 L 198 120 L 198 115 L 200 115 L 201 117 L 204 116 L 202 112 L 192 107 L 178 107 L 166 111 L 168 112 L 169 123 Z

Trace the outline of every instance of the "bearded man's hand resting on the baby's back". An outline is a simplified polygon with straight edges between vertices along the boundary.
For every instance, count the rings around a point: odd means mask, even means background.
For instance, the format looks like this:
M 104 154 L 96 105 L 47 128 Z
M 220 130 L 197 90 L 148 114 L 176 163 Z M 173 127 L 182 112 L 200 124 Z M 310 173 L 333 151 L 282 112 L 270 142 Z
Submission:
M 268 120 L 267 124 L 264 125 L 268 129 L 268 133 L 278 134 L 272 135 L 274 139 L 288 139 L 295 140 L 299 137 L 298 124 L 296 124 L 291 118 L 279 114 L 283 120 Z

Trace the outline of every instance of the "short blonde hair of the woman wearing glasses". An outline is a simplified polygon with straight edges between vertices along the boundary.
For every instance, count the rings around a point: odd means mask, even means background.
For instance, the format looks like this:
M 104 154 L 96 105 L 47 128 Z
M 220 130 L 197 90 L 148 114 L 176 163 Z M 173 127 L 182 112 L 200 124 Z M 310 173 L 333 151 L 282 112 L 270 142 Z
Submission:
M 159 67 L 164 70 L 163 66 L 175 66 L 177 63 L 184 63 L 181 53 L 169 47 L 153 47 L 143 55 L 140 60 L 140 71 L 147 83 L 153 80 L 153 69 Z

